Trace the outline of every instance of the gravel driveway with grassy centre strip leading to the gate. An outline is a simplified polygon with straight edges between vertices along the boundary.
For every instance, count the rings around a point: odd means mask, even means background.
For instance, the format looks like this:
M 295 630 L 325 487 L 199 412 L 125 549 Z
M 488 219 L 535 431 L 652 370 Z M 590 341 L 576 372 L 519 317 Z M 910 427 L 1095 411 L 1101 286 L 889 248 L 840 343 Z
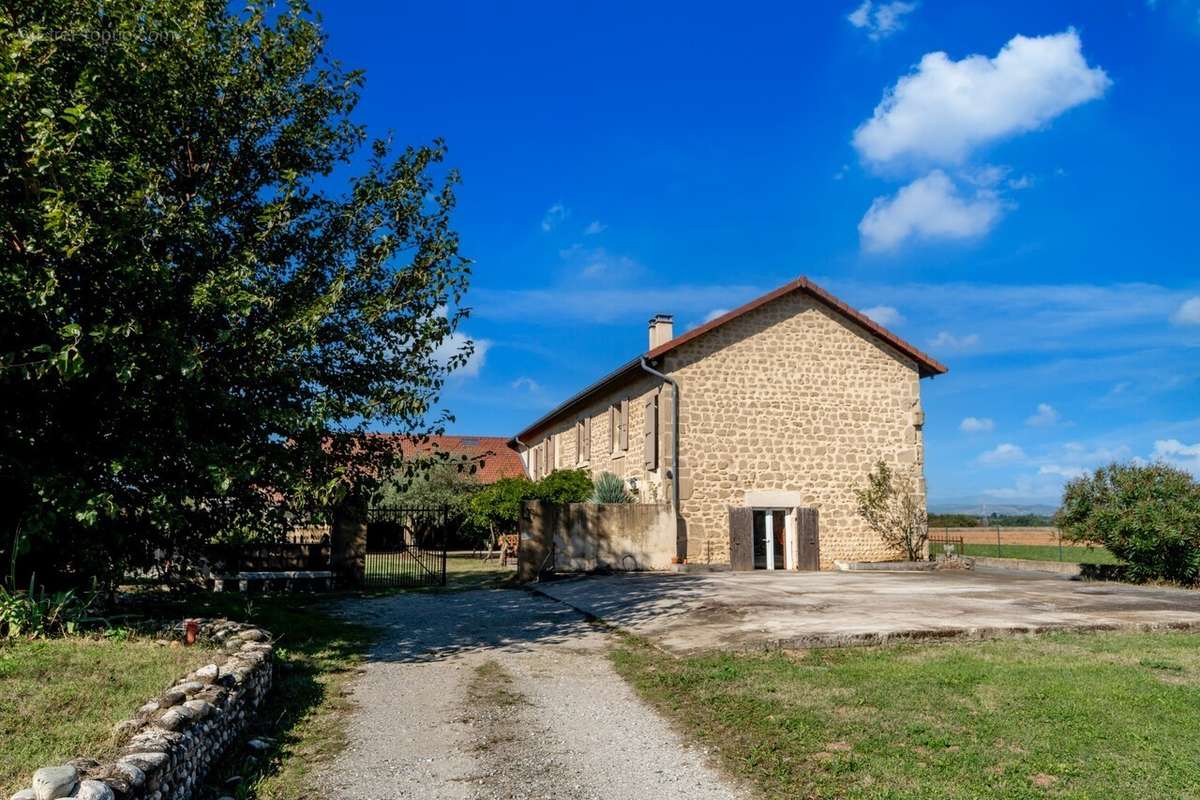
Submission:
M 344 613 L 386 630 L 355 682 L 346 800 L 727 800 L 704 754 L 634 694 L 608 634 L 517 590 L 406 594 Z

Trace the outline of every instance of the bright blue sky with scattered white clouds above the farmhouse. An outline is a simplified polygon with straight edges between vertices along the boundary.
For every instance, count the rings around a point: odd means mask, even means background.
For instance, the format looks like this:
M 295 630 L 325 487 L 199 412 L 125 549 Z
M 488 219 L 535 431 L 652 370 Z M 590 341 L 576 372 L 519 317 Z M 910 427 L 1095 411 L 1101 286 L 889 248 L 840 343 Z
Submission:
M 949 365 L 932 501 L 1200 474 L 1200 2 L 318 8 L 358 119 L 462 172 L 451 432 L 808 275 Z

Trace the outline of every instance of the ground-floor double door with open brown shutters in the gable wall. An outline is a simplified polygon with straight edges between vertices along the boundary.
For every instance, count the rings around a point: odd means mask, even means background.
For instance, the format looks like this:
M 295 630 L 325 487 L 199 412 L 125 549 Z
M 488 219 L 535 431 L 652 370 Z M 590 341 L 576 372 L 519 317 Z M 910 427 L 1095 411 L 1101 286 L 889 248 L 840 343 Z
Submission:
M 816 509 L 730 509 L 734 570 L 820 570 Z

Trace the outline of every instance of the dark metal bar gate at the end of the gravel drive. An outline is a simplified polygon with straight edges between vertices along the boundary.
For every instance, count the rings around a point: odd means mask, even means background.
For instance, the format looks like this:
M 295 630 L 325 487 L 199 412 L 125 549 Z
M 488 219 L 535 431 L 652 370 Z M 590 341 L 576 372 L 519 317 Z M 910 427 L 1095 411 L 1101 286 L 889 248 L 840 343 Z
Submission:
M 444 587 L 446 540 L 456 523 L 446 509 L 371 509 L 364 584 Z

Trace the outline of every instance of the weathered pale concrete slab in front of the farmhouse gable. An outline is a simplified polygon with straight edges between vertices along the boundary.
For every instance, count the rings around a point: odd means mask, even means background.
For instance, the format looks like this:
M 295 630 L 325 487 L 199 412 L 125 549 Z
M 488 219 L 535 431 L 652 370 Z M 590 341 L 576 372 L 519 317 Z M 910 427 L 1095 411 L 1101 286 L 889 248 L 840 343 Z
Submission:
M 1200 631 L 1200 593 L 1030 573 L 625 573 L 535 588 L 680 654 L 1052 630 Z

